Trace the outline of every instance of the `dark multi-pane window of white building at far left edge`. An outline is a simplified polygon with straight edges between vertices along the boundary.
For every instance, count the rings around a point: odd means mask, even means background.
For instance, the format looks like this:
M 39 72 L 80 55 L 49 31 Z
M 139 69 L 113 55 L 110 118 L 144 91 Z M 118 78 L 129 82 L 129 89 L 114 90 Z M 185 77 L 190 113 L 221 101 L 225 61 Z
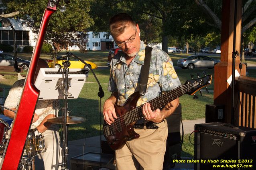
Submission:
M 18 46 L 29 46 L 29 31 L 16 31 L 16 41 Z M 1 30 L 0 42 L 2 44 L 14 45 L 12 31 Z

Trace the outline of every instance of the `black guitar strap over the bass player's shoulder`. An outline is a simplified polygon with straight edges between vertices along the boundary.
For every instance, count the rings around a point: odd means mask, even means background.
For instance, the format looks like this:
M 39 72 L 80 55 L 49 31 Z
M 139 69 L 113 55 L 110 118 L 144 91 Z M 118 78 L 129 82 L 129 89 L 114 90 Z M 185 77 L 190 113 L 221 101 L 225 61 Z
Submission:
M 141 74 L 140 74 L 140 95 L 141 96 L 144 96 L 147 90 L 151 51 L 152 51 L 152 48 L 149 46 L 146 46 L 144 64 L 142 65 Z

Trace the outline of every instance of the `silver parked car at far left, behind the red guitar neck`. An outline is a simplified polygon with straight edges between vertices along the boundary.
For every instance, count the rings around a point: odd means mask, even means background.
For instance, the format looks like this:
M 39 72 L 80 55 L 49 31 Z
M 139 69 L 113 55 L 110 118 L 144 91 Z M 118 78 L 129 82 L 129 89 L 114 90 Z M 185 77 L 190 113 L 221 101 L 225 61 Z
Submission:
M 0 66 L 14 66 L 15 57 L 11 54 L 0 54 Z M 28 70 L 30 61 L 17 57 L 18 66 L 23 70 Z

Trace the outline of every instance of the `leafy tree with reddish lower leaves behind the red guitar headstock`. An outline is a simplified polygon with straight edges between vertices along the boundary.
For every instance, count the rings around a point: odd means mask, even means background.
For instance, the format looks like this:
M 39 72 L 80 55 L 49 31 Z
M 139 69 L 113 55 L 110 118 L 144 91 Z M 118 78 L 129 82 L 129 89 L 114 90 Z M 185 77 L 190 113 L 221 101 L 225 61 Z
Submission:
M 32 28 L 33 32 L 39 32 L 41 20 L 48 0 L 2 0 L 7 12 L 18 12 L 16 19 L 21 19 L 22 24 Z M 73 46 L 81 38 L 81 32 L 93 24 L 89 16 L 90 0 L 72 0 L 65 4 L 66 11 L 57 10 L 49 21 L 45 42 L 53 46 L 53 57 L 55 58 L 60 50 Z M 58 8 L 64 5 L 61 1 Z M 35 37 L 36 38 L 36 37 Z

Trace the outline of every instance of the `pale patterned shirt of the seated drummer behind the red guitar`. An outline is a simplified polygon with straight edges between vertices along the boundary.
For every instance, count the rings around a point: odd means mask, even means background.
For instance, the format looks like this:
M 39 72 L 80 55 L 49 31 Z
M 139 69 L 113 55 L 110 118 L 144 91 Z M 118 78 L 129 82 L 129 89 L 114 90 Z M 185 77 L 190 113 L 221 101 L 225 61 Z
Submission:
M 24 85 L 25 79 L 16 81 L 12 88 L 9 91 L 9 94 L 5 100 L 4 106 L 7 108 L 17 108 L 20 102 L 22 88 Z M 36 128 L 41 124 L 44 118 L 49 114 L 54 114 L 58 116 L 59 103 L 58 100 L 38 100 L 35 110 L 35 114 L 39 116 L 39 119 L 31 124 L 31 129 Z

